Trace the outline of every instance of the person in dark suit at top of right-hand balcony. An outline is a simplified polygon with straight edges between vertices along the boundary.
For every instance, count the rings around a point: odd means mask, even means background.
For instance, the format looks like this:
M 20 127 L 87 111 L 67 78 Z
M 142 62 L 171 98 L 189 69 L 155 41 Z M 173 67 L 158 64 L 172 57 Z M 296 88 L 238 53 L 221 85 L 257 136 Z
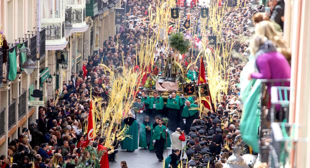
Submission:
M 281 26 L 283 30 L 284 22 L 282 17 L 284 16 L 284 0 L 272 0 L 272 12 L 270 16 L 270 20 L 273 20 L 277 24 Z

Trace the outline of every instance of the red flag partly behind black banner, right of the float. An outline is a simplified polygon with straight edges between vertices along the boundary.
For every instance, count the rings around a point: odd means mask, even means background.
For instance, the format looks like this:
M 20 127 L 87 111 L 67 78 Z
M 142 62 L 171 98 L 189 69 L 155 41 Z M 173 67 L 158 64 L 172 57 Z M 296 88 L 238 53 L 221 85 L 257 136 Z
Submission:
M 205 79 L 205 69 L 204 69 L 204 63 L 202 56 L 200 57 L 200 68 L 199 68 L 199 79 L 198 79 L 198 84 L 203 84 L 206 83 Z M 209 88 L 209 87 L 208 87 Z M 206 100 L 201 100 L 201 103 L 205 108 L 207 108 L 209 111 L 212 111 L 212 99 L 211 99 L 211 94 L 210 90 L 208 90 L 209 96 L 206 96 Z

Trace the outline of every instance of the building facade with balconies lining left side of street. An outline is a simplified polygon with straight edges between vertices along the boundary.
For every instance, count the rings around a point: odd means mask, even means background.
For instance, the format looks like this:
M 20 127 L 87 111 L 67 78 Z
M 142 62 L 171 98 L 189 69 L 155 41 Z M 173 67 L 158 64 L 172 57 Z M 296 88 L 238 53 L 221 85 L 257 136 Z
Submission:
M 119 0 L 0 0 L 0 31 L 9 46 L 0 48 L 0 154 L 37 121 L 38 107 L 28 106 L 33 90 L 44 102 L 55 99 L 82 60 L 115 35 L 115 6 Z M 38 65 L 29 75 L 21 68 L 27 58 Z

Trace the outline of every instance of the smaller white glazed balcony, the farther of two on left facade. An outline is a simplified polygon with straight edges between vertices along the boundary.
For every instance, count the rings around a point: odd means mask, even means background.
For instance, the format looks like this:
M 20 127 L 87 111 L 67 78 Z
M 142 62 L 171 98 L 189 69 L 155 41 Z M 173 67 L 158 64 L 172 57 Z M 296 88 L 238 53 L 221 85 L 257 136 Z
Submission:
M 71 32 L 86 31 L 85 0 L 67 0 L 65 6 L 65 28 L 70 28 Z

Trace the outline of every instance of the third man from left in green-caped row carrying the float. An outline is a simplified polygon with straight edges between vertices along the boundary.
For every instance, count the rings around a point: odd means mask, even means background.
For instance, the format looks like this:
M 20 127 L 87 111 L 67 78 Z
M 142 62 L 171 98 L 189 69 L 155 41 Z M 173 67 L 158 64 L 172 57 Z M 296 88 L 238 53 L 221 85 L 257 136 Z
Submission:
M 176 97 L 176 94 L 174 92 L 171 93 L 171 95 L 167 99 L 166 104 L 166 116 L 169 119 L 169 129 L 175 130 L 179 127 L 179 116 L 180 116 L 180 100 L 178 97 Z

